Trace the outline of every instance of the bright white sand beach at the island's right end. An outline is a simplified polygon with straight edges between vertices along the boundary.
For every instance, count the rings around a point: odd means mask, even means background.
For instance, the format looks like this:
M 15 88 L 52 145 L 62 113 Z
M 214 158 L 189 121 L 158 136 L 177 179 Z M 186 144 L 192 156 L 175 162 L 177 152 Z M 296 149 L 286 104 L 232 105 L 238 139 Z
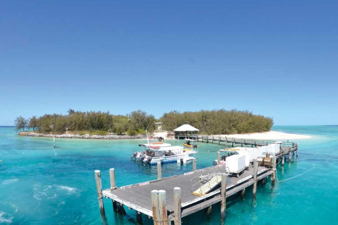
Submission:
M 227 136 L 229 138 L 244 138 L 244 139 L 258 139 L 258 140 L 294 140 L 294 139 L 307 139 L 311 138 L 309 135 L 284 133 L 279 131 L 267 131 L 261 133 L 247 133 L 247 134 L 229 134 L 220 135 Z

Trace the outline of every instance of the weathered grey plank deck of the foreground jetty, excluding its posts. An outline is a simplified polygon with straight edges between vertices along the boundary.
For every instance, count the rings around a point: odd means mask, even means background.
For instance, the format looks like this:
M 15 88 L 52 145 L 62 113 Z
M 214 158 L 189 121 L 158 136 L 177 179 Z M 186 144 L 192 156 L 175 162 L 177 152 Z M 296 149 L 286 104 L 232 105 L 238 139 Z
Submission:
M 123 186 L 119 189 L 111 190 L 107 189 L 102 191 L 102 194 L 106 198 L 113 199 L 116 202 L 121 203 L 129 208 L 135 209 L 140 213 L 146 214 L 152 217 L 152 205 L 151 205 L 151 191 L 152 190 L 165 190 L 167 193 L 167 210 L 168 219 L 173 219 L 174 203 L 173 203 L 173 189 L 179 187 L 182 189 L 182 217 L 190 215 L 197 210 L 209 207 L 211 204 L 215 204 L 221 201 L 220 198 L 220 186 L 215 188 L 214 191 L 204 196 L 195 196 L 192 194 L 191 179 L 206 173 L 215 173 L 219 167 L 209 167 L 194 172 L 185 173 L 182 175 L 166 177 L 163 179 L 152 180 L 149 182 L 143 182 L 128 186 Z M 261 180 L 272 173 L 272 170 L 259 167 L 258 180 Z M 252 179 L 254 176 L 254 169 L 249 167 L 249 170 L 245 170 L 243 174 L 237 177 L 229 177 L 226 184 L 226 197 L 231 196 L 247 186 L 252 185 L 255 181 Z

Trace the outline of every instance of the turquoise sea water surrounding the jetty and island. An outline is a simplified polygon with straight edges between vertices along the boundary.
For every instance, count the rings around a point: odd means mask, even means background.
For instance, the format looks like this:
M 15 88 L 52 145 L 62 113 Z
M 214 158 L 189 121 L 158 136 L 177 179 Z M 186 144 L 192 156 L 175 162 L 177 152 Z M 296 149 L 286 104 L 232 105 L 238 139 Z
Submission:
M 274 126 L 273 130 L 309 134 L 299 144 L 299 157 L 277 167 L 276 182 L 258 186 L 256 203 L 252 188 L 245 199 L 227 199 L 226 224 L 337 224 L 338 223 L 338 126 Z M 135 224 L 134 210 L 113 213 L 104 199 L 106 220 L 101 220 L 95 191 L 94 170 L 101 170 L 102 186 L 109 184 L 109 168 L 115 168 L 118 186 L 155 179 L 156 166 L 131 161 L 129 156 L 144 140 L 71 140 L 18 136 L 14 127 L 0 127 L 0 224 Z M 166 142 L 182 145 L 183 141 Z M 197 169 L 211 166 L 215 144 L 199 143 Z M 192 164 L 162 165 L 162 175 L 192 170 Z M 204 211 L 183 218 L 183 224 L 219 224 L 220 205 L 212 217 Z M 153 224 L 143 216 L 144 224 Z

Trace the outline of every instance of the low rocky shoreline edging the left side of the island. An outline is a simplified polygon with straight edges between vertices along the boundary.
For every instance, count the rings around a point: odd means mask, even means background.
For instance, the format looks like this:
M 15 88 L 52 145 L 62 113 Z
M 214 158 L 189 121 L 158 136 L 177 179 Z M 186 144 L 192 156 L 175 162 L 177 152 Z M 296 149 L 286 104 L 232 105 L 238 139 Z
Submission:
M 89 135 L 89 134 L 52 134 L 52 133 L 35 133 L 35 132 L 23 132 L 21 131 L 19 135 L 30 136 L 30 137 L 44 137 L 44 138 L 73 138 L 73 139 L 144 139 L 147 138 L 144 134 L 139 135 L 116 135 L 116 134 L 107 134 L 107 135 Z

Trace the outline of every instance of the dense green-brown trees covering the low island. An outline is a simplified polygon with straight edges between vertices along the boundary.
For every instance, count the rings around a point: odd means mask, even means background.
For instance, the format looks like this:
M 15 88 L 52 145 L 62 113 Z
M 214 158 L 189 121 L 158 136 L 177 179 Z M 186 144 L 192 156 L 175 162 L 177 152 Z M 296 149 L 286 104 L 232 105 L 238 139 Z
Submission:
M 67 115 L 45 114 L 33 116 L 28 120 L 17 117 L 16 130 L 32 129 L 40 132 L 64 133 L 66 131 L 108 131 L 116 134 L 144 133 L 156 129 L 155 117 L 145 111 L 136 110 L 123 115 L 113 115 L 109 111 L 75 111 L 68 110 Z M 208 134 L 234 134 L 269 131 L 273 125 L 270 117 L 254 115 L 249 111 L 233 110 L 200 110 L 180 113 L 176 110 L 164 113 L 160 118 L 162 129 L 172 131 L 175 128 L 190 124 Z

